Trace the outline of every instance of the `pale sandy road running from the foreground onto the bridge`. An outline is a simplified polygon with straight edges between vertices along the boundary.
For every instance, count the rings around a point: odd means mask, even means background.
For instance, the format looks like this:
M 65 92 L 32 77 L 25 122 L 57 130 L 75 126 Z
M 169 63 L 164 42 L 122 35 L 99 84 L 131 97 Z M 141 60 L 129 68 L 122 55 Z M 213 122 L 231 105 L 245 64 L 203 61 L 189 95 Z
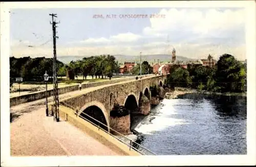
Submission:
M 124 84 L 131 81 L 135 80 L 115 84 Z M 59 99 L 78 96 L 115 84 L 60 94 Z M 49 102 L 52 101 L 53 97 L 50 97 Z M 10 112 L 13 115 L 11 123 L 12 156 L 120 155 L 71 124 L 62 120 L 56 123 L 52 116 L 46 117 L 45 99 L 12 106 Z

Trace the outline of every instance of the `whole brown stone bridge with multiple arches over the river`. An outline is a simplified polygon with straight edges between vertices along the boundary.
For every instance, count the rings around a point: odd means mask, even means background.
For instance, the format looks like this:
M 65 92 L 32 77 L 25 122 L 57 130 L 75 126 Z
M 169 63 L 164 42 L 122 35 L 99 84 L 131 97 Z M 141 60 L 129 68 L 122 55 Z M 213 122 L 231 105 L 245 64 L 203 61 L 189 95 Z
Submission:
M 80 117 L 98 125 L 84 113 L 92 116 L 106 125 L 101 126 L 106 131 L 115 134 L 110 130 L 111 127 L 119 133 L 130 134 L 133 118 L 136 115 L 147 115 L 151 106 L 157 105 L 159 99 L 164 98 L 166 80 L 166 75 L 160 75 L 109 84 L 62 100 L 60 104 L 76 108 Z

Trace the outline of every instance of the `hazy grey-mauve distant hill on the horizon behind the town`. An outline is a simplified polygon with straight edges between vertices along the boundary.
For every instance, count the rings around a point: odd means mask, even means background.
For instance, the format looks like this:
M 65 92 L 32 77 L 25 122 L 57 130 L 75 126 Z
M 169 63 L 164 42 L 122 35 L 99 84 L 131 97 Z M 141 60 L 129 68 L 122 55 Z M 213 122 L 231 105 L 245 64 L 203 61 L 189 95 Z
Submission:
M 114 55 L 115 58 L 119 63 L 123 63 L 124 61 L 129 62 L 139 62 L 140 61 L 140 56 L 129 56 L 129 55 Z M 89 57 L 89 56 L 84 56 L 84 57 Z M 141 56 L 141 61 L 147 61 L 148 63 L 157 62 L 157 59 L 159 59 L 159 62 L 168 62 L 170 61 L 172 55 L 163 55 L 163 54 L 157 54 L 157 55 L 142 55 Z M 77 61 L 81 60 L 83 56 L 58 56 L 57 59 L 63 63 L 70 63 L 70 61 Z M 176 60 L 181 60 L 181 61 L 187 61 L 191 60 L 187 57 L 184 56 L 176 56 Z

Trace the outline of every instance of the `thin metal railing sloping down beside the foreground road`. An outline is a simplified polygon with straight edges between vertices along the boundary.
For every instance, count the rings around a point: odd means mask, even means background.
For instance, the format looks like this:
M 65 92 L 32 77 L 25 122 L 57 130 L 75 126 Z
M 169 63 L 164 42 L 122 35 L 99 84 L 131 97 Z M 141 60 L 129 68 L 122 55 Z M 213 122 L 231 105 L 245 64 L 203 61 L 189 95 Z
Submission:
M 65 103 L 65 102 L 59 102 L 59 103 L 62 104 L 63 106 L 65 106 L 65 107 L 72 108 L 72 111 L 73 111 L 76 115 L 78 114 L 78 110 L 77 110 L 75 107 L 70 106 L 70 105 L 68 105 L 68 104 Z M 75 110 L 75 111 L 74 111 L 74 110 Z M 130 150 L 131 150 L 131 149 L 134 149 L 135 151 L 139 152 L 139 153 L 142 154 L 142 155 L 148 155 L 148 154 L 145 154 L 144 152 L 148 152 L 148 153 L 150 153 L 151 155 L 156 155 L 155 153 L 153 153 L 152 151 L 150 151 L 150 150 L 146 149 L 145 147 L 141 146 L 140 144 L 138 144 L 138 143 L 135 142 L 134 140 L 128 138 L 127 136 L 125 136 L 125 135 L 123 135 L 123 134 L 117 132 L 116 130 L 114 130 L 114 129 L 108 127 L 108 126 L 106 126 L 105 124 L 99 122 L 98 120 L 96 120 L 96 119 L 93 118 L 92 116 L 90 116 L 90 115 L 88 115 L 88 114 L 86 114 L 86 113 L 83 113 L 83 114 L 86 115 L 86 116 L 88 116 L 88 117 L 90 117 L 90 118 L 92 118 L 94 121 L 96 121 L 96 122 L 98 123 L 98 125 L 96 125 L 95 123 L 91 122 L 90 120 L 88 120 L 87 118 L 85 118 L 85 117 L 83 117 L 83 116 L 81 116 L 81 115 L 79 115 L 79 117 L 83 118 L 84 120 L 86 120 L 86 121 L 90 122 L 91 124 L 93 124 L 94 126 L 98 127 L 98 130 L 101 129 L 102 131 L 104 131 L 104 132 L 108 133 L 109 135 L 113 136 L 114 138 L 118 139 L 118 140 L 121 141 L 123 144 L 125 144 L 126 146 L 128 146 L 128 147 L 130 148 Z M 78 115 L 77 115 L 77 116 L 78 116 Z M 122 139 L 118 138 L 117 136 L 115 136 L 115 135 L 111 134 L 110 132 L 106 131 L 105 129 L 101 128 L 100 125 L 103 125 L 104 127 L 109 128 L 109 130 L 112 130 L 113 132 L 117 133 L 118 135 L 120 135 L 120 136 L 122 136 L 122 137 L 128 139 L 128 140 L 130 141 L 130 144 L 127 144 L 127 143 L 126 143 L 125 141 L 123 141 Z M 144 152 L 138 150 L 137 148 L 135 148 L 134 146 L 132 146 L 132 144 L 135 144 L 135 145 L 139 146 Z

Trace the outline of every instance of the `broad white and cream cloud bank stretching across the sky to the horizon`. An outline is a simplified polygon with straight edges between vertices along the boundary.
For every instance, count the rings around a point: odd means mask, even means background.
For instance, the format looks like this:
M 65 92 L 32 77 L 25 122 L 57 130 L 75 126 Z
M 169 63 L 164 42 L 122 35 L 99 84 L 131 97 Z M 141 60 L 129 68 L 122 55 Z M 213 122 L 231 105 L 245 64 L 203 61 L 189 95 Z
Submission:
M 151 26 L 140 34 L 114 34 L 109 38 L 88 38 L 57 45 L 57 55 L 92 56 L 100 54 L 171 54 L 175 47 L 178 56 L 205 58 L 209 53 L 218 56 L 228 53 L 245 59 L 245 11 L 218 9 L 162 9 L 165 18 L 150 18 Z M 13 41 L 15 56 L 52 55 L 52 46 L 27 47 L 30 41 Z

